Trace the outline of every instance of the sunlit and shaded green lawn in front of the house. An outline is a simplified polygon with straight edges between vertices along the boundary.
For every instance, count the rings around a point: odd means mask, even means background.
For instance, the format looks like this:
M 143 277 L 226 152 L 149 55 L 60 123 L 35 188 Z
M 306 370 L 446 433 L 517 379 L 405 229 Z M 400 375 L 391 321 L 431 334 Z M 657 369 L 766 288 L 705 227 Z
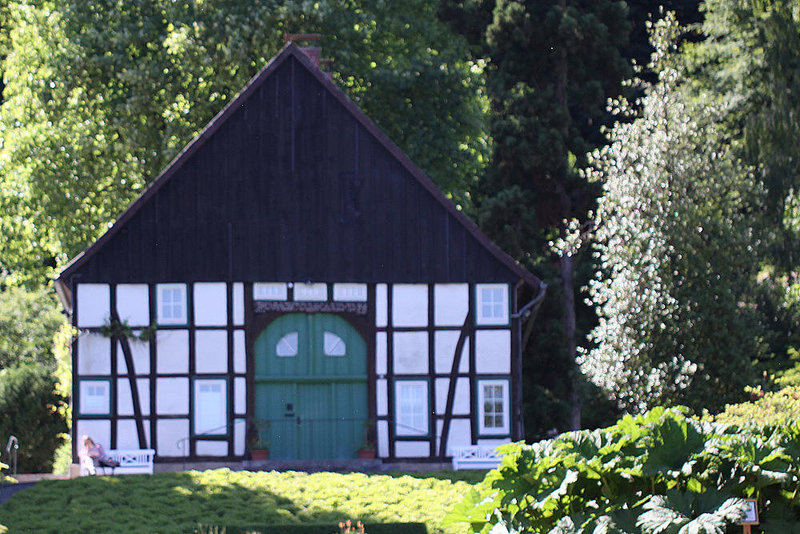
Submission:
M 0 505 L 10 532 L 191 532 L 198 524 L 441 521 L 480 474 L 234 472 L 42 481 Z M 461 480 L 459 480 L 461 479 Z M 469 480 L 469 482 L 463 479 Z

